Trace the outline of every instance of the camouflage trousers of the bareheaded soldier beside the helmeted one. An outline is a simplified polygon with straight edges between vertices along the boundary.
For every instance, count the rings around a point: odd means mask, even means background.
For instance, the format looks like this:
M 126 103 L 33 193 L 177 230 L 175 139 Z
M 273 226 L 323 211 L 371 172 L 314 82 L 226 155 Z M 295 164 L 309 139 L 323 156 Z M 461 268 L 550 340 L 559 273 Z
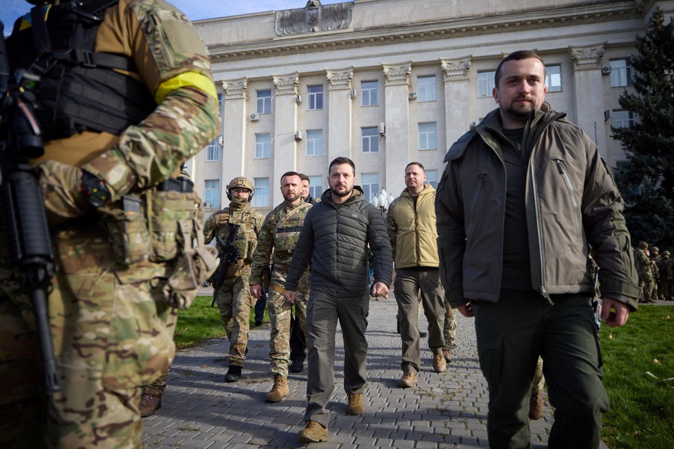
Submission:
M 271 359 L 272 374 L 281 374 L 288 378 L 288 363 L 290 363 L 290 316 L 292 304 L 286 297 L 274 290 L 273 286 L 284 287 L 286 274 L 281 270 L 274 270 L 269 282 L 267 294 L 267 308 L 269 309 L 269 321 L 271 322 L 271 336 L 269 338 L 269 358 Z M 279 289 L 281 290 L 281 289 Z M 295 326 L 299 325 L 307 338 L 307 301 L 309 300 L 309 272 L 305 272 L 297 285 L 295 296 Z

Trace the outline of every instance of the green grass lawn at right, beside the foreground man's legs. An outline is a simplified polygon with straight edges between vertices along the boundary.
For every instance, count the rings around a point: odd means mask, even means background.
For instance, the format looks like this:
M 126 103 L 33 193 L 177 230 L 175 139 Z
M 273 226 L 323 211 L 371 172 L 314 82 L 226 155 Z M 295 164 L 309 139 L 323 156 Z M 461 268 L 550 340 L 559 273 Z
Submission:
M 674 448 L 673 334 L 671 306 L 639 305 L 625 326 L 601 326 L 604 385 L 611 401 L 602 439 L 609 448 Z

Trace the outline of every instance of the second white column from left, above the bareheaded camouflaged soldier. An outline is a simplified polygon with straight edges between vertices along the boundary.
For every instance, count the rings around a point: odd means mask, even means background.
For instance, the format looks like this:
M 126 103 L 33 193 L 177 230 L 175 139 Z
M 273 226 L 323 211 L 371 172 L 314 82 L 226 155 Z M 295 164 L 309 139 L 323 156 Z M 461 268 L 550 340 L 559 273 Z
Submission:
M 273 75 L 276 86 L 274 109 L 274 135 L 271 140 L 271 163 L 274 166 L 273 177 L 269 180 L 271 191 L 271 207 L 281 203 L 283 196 L 279 186 L 281 176 L 297 169 L 297 84 L 299 73 L 290 75 Z

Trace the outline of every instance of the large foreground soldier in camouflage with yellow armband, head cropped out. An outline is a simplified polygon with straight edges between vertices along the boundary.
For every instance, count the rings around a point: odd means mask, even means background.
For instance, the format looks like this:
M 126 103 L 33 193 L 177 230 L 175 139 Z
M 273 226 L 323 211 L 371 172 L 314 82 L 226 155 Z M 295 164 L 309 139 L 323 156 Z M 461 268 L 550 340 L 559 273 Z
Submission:
M 190 298 L 185 294 L 177 304 L 182 294 L 168 283 L 184 269 L 177 265 L 186 260 L 180 251 L 161 261 L 142 227 L 127 246 L 118 244 L 115 238 L 129 234 L 118 233 L 123 227 L 115 227 L 116 218 L 135 218 L 140 225 L 146 218 L 155 224 L 166 219 L 147 201 L 185 192 L 173 191 L 168 181 L 216 136 L 216 88 L 197 31 L 162 0 L 103 6 L 61 1 L 42 12 L 49 26 L 35 20 L 37 9 L 32 18 L 16 21 L 7 47 L 10 73 L 44 69 L 36 112 L 45 155 L 32 164 L 58 267 L 48 308 L 61 389 L 45 394 L 32 304 L 20 286 L 23 273 L 1 253 L 0 447 L 139 448 L 140 387 L 173 360 L 172 305 L 184 307 Z M 73 38 L 73 23 L 85 21 L 92 23 L 78 27 Z M 54 53 L 38 57 L 34 36 L 49 36 Z M 87 57 L 66 63 L 53 59 L 57 52 Z M 64 73 L 68 83 L 59 82 Z M 47 92 L 56 95 L 43 103 Z M 108 120 L 112 115 L 118 123 Z M 55 116 L 55 123 L 46 116 Z M 140 213 L 132 216 L 123 197 L 137 199 Z M 152 252 L 140 251 L 146 244 Z

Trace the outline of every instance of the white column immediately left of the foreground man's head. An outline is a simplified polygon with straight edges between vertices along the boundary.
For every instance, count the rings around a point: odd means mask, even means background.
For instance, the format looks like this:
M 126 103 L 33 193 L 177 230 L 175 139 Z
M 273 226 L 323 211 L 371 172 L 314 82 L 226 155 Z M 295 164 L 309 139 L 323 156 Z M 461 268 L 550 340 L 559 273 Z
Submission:
M 447 149 L 468 131 L 473 115 L 469 101 L 471 56 L 458 60 L 440 59 L 442 73 L 445 75 L 445 142 Z M 439 170 L 438 170 L 439 171 Z

